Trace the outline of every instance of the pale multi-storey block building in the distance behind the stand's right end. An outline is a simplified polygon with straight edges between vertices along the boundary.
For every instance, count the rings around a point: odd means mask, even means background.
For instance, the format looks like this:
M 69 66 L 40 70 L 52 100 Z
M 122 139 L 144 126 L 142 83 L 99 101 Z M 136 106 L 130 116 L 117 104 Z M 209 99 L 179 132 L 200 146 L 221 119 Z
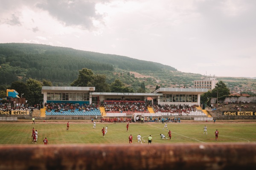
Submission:
M 215 88 L 215 85 L 218 83 L 218 80 L 215 76 L 204 76 L 201 80 L 194 80 L 194 87 L 195 88 L 206 88 L 212 90 Z

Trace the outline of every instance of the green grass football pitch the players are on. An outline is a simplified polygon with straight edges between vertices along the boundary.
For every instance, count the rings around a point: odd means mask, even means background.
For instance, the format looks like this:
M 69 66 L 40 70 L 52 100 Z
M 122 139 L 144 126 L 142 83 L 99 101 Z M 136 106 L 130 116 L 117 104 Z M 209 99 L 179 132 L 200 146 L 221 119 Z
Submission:
M 151 135 L 153 143 L 209 143 L 209 142 L 256 142 L 256 122 L 184 122 L 168 123 L 172 131 L 172 140 L 160 139 L 160 133 L 167 136 L 168 130 L 163 130 L 162 123 L 130 123 L 126 132 L 126 123 L 99 123 L 93 129 L 92 123 L 70 122 L 31 122 L 0 123 L 0 144 L 32 144 L 32 127 L 38 130 L 38 143 L 43 144 L 47 137 L 49 144 L 128 144 L 128 136 L 133 136 L 133 144 L 138 144 L 137 135 L 147 142 Z M 207 135 L 203 134 L 204 125 Z M 102 127 L 108 126 L 108 133 L 102 137 Z M 218 129 L 218 141 L 215 140 L 215 130 Z M 146 143 L 145 143 L 146 144 Z M 35 144 L 33 144 L 35 145 Z

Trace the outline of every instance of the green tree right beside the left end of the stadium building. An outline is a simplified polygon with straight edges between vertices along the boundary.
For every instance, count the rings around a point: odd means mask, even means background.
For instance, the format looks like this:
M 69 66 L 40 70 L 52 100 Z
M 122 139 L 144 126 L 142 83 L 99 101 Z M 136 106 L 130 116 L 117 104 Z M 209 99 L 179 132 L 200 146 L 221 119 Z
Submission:
M 26 94 L 26 100 L 31 105 L 40 104 L 43 101 L 42 84 L 35 79 L 27 79 L 26 85 L 29 88 L 29 94 Z

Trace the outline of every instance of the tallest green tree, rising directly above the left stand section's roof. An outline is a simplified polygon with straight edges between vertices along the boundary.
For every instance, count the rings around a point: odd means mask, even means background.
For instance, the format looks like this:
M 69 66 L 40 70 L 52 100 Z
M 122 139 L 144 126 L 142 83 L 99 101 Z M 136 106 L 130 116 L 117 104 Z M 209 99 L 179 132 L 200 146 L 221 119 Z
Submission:
M 70 85 L 77 87 L 87 87 L 87 83 L 94 79 L 93 71 L 87 68 L 79 70 L 78 78 Z

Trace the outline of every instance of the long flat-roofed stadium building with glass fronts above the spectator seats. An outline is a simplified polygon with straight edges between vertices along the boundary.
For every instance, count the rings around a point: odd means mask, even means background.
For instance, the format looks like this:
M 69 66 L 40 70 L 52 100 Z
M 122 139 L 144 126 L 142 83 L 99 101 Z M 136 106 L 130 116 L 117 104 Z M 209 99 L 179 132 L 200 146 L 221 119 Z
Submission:
M 44 103 L 101 104 L 104 102 L 150 102 L 161 105 L 200 105 L 200 96 L 206 88 L 159 88 L 152 93 L 94 92 L 95 87 L 43 86 Z

